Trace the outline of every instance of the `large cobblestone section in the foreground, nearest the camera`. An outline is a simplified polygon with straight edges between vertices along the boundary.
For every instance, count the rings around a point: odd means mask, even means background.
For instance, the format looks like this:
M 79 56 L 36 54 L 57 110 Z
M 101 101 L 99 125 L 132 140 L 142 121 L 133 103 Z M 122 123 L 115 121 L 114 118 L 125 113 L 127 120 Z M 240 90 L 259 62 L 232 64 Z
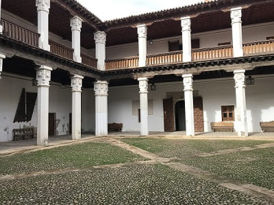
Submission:
M 0 204 L 270 204 L 164 165 L 3 181 Z

